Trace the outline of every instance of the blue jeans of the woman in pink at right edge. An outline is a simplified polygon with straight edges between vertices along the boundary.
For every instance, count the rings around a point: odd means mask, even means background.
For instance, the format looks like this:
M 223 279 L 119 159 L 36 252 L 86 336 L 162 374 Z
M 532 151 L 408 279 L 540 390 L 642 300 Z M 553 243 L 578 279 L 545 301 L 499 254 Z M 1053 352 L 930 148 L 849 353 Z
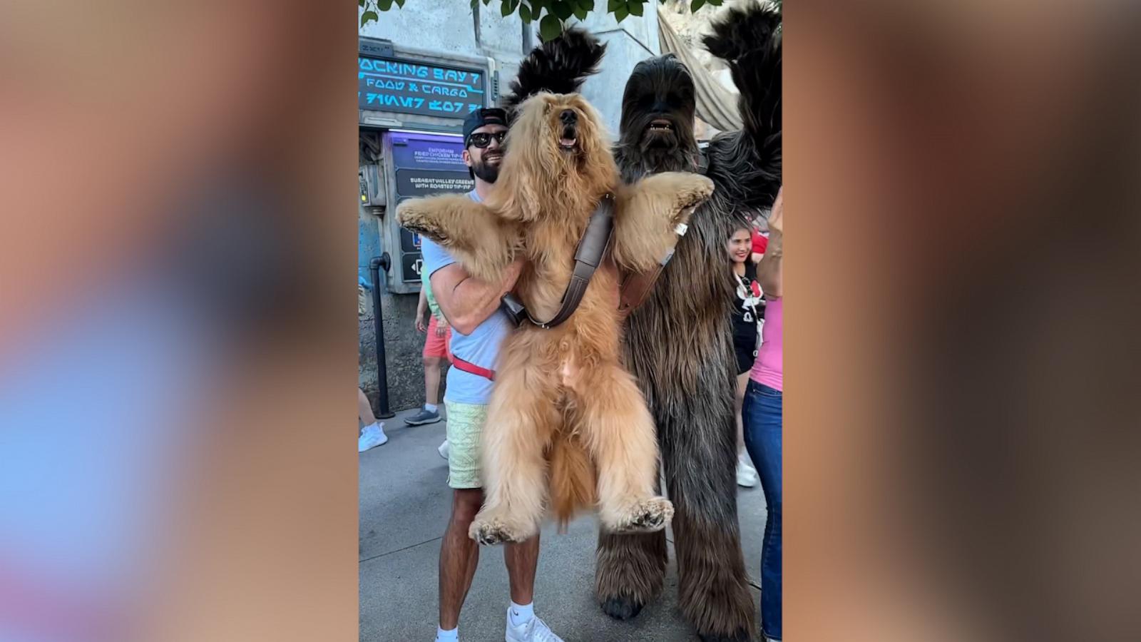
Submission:
M 761 478 L 768 519 L 761 545 L 761 631 L 780 640 L 780 427 L 784 395 L 750 379 L 742 408 L 745 448 Z

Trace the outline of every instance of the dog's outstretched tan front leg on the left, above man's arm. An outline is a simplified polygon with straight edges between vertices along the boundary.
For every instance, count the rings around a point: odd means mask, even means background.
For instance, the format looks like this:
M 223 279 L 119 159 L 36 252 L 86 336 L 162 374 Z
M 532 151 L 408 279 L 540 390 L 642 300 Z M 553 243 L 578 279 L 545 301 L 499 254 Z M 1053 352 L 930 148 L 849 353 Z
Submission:
M 396 219 L 439 243 L 482 281 L 500 282 L 515 258 L 516 226 L 467 194 L 408 199 L 396 208 Z

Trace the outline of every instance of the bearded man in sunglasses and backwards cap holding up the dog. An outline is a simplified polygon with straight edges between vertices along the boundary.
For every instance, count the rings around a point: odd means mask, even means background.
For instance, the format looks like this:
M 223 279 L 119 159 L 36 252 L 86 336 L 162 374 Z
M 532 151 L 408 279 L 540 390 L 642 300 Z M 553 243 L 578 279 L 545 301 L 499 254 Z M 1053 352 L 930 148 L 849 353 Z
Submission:
M 463 122 L 463 161 L 476 187 L 469 195 L 482 201 L 499 177 L 507 135 L 507 113 L 501 109 L 471 112 Z M 447 410 L 448 479 L 453 489 L 452 516 L 439 552 L 439 629 L 437 642 L 459 640 L 460 609 L 467 597 L 479 560 L 479 545 L 468 537 L 484 503 L 479 473 L 479 436 L 487 417 L 495 359 L 510 322 L 500 311 L 500 299 L 515 287 L 523 267 L 513 263 L 503 281 L 488 283 L 472 278 L 443 248 L 422 240 L 424 270 L 444 316 L 452 326 L 453 367 L 447 372 L 444 406 Z M 507 642 L 563 642 L 534 613 L 533 589 L 539 563 L 539 536 L 504 545 L 511 587 L 507 613 Z

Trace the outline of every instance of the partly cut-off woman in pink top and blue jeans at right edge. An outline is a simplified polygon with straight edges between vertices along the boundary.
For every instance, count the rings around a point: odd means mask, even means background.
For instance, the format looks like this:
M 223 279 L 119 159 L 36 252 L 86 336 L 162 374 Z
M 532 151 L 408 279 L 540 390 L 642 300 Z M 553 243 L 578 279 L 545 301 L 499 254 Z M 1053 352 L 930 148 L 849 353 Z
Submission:
M 761 348 L 748 374 L 742 409 L 745 448 L 756 466 L 768 516 L 761 545 L 761 631 L 766 640 L 780 640 L 780 435 L 784 398 L 784 191 L 769 215 L 769 247 L 756 264 L 756 281 L 764 291 Z

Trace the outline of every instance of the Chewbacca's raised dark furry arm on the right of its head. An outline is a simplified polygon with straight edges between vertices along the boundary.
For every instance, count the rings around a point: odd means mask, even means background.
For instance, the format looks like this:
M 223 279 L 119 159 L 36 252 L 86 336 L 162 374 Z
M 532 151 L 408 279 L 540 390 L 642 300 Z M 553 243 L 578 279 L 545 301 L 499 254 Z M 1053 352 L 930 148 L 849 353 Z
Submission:
M 713 23 L 705 48 L 728 63 L 741 91 L 744 129 L 721 134 L 709 146 L 709 176 L 739 207 L 768 208 L 780 186 L 780 14 L 751 3 Z

